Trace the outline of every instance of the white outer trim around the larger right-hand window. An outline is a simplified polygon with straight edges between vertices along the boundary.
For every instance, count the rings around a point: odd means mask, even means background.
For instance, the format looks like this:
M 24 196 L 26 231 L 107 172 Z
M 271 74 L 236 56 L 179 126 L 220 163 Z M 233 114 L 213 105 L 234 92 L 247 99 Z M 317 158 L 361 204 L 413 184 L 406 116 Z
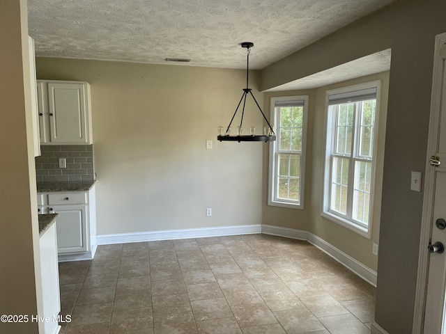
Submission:
M 328 97 L 330 95 L 334 94 L 341 94 L 341 93 L 348 93 L 353 92 L 355 90 L 363 90 L 367 88 L 374 88 L 376 87 L 376 118 L 375 118 L 375 143 L 374 143 L 374 162 L 372 164 L 372 170 L 371 170 L 371 201 L 370 201 L 370 213 L 369 213 L 369 224 L 367 227 L 364 227 L 360 224 L 357 224 L 353 221 L 351 221 L 348 218 L 343 218 L 341 216 L 338 216 L 337 214 L 333 214 L 330 212 L 330 159 L 331 159 L 331 146 L 327 145 L 327 139 L 333 138 L 333 131 L 332 127 L 328 128 L 328 124 L 332 124 L 332 115 L 328 113 Z M 344 228 L 348 228 L 349 230 L 352 230 L 353 232 L 356 232 L 357 234 L 362 235 L 363 237 L 366 237 L 367 239 L 371 239 L 371 231 L 372 231 L 372 225 L 374 221 L 374 202 L 376 197 L 376 158 L 378 156 L 378 136 L 379 136 L 379 118 L 380 118 L 380 88 L 381 88 L 381 81 L 370 81 L 364 84 L 358 84 L 354 86 L 348 86 L 343 88 L 337 88 L 333 90 L 327 90 L 325 92 L 325 123 L 324 123 L 324 129 L 325 135 L 324 135 L 324 150 L 323 150 L 323 177 L 322 177 L 322 200 L 321 200 L 321 216 L 324 218 L 329 219 L 330 221 L 333 221 L 334 223 L 337 223 L 341 226 L 344 226 Z M 331 143 L 332 141 L 330 141 Z

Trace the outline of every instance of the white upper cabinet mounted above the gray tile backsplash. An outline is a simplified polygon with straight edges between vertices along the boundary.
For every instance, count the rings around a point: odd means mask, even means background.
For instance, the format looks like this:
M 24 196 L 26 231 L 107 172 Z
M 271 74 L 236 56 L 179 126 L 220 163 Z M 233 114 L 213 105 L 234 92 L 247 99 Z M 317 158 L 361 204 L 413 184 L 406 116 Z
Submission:
M 38 80 L 40 143 L 91 144 L 90 85 Z

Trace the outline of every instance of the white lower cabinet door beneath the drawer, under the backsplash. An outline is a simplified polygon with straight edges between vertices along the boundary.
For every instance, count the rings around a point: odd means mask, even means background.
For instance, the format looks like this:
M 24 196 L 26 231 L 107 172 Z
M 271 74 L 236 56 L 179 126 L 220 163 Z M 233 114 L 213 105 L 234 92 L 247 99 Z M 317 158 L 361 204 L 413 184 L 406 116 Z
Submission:
M 58 253 L 79 253 L 89 250 L 86 205 L 60 205 L 52 209 L 59 214 L 56 221 Z

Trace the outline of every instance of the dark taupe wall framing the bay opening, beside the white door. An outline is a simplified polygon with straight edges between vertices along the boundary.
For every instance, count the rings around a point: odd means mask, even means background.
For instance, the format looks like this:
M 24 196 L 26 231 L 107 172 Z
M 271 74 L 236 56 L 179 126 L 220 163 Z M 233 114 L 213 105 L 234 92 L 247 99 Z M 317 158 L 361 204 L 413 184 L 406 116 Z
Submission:
M 426 164 L 434 39 L 446 31 L 445 13 L 444 0 L 396 1 L 261 72 L 268 89 L 392 48 L 376 293 L 376 322 L 391 334 L 412 331 L 423 193 L 410 191 L 410 170 Z

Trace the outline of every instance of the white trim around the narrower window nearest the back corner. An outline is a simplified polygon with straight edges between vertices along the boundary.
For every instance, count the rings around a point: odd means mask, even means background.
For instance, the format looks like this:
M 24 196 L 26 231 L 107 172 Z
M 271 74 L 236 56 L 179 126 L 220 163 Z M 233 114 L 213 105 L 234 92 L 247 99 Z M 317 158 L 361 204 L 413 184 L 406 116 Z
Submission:
M 307 152 L 307 118 L 308 118 L 308 95 L 293 95 L 282 97 L 271 97 L 270 101 L 270 124 L 275 127 L 277 132 L 277 120 L 278 115 L 275 111 L 275 102 L 278 101 L 303 101 L 304 111 L 302 119 L 302 153 L 300 154 L 300 200 L 299 203 L 289 202 L 283 199 L 278 199 L 275 196 L 275 189 L 277 187 L 277 161 L 275 159 L 277 152 L 278 141 L 270 142 L 270 161 L 269 161 L 269 173 L 268 173 L 268 205 L 275 207 L 289 207 L 292 209 L 304 209 L 305 198 L 305 156 Z M 276 134 L 277 135 L 277 134 Z

